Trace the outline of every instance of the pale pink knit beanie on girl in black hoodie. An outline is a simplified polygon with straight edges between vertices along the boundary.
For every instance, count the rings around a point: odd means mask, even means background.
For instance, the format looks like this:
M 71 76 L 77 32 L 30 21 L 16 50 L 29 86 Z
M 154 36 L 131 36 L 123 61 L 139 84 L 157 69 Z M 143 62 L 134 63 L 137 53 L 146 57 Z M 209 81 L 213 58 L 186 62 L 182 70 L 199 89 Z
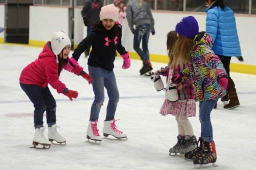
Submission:
M 119 10 L 114 6 L 114 4 L 103 6 L 100 11 L 100 21 L 104 19 L 112 19 L 117 21 L 118 12 Z

